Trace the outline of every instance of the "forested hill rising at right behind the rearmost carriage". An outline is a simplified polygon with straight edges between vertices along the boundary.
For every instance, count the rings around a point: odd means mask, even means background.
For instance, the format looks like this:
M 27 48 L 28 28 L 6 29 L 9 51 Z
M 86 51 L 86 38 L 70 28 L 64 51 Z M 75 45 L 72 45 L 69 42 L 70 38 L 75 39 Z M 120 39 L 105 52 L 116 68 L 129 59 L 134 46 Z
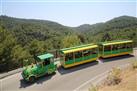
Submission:
M 105 23 L 81 25 L 76 28 L 86 34 L 88 41 L 97 42 L 115 39 L 133 39 L 137 45 L 137 18 L 121 16 Z

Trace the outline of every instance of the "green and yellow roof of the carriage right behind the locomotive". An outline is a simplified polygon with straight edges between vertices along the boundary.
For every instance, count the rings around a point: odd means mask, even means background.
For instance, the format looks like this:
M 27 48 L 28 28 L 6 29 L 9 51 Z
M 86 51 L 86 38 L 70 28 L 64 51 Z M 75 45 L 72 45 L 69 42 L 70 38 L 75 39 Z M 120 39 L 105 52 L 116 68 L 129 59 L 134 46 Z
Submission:
M 86 45 L 80 45 L 80 46 L 75 46 L 75 47 L 70 47 L 70 48 L 64 48 L 61 49 L 60 51 L 63 54 L 71 53 L 71 52 L 76 52 L 76 51 L 81 51 L 81 50 L 86 50 L 90 48 L 96 48 L 98 45 L 96 44 L 86 44 Z

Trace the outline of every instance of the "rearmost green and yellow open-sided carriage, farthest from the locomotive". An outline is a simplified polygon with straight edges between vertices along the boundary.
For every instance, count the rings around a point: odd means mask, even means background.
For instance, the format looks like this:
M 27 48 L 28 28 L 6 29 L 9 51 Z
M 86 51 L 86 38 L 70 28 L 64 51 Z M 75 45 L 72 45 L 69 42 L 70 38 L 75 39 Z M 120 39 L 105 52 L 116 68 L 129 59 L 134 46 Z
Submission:
M 107 41 L 107 42 L 101 42 L 98 45 L 99 45 L 99 55 L 102 58 L 133 53 L 132 40 Z

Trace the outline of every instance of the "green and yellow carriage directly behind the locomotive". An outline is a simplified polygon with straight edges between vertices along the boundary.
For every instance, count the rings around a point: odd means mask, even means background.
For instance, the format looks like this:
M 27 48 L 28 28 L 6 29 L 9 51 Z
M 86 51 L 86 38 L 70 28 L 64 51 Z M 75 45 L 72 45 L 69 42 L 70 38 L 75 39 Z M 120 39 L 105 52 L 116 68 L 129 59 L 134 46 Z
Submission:
M 86 44 L 60 50 L 60 62 L 64 68 L 96 61 L 98 58 L 98 45 Z

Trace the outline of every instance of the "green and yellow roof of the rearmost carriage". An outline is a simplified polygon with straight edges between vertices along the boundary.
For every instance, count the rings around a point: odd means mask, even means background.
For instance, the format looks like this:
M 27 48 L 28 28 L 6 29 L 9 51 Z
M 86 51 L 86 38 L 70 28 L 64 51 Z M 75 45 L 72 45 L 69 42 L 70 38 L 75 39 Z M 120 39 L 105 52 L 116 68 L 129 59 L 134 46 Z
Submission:
M 115 44 L 124 44 L 124 43 L 132 43 L 132 40 L 117 40 L 117 41 L 107 41 L 107 42 L 100 42 L 99 45 L 115 45 Z

